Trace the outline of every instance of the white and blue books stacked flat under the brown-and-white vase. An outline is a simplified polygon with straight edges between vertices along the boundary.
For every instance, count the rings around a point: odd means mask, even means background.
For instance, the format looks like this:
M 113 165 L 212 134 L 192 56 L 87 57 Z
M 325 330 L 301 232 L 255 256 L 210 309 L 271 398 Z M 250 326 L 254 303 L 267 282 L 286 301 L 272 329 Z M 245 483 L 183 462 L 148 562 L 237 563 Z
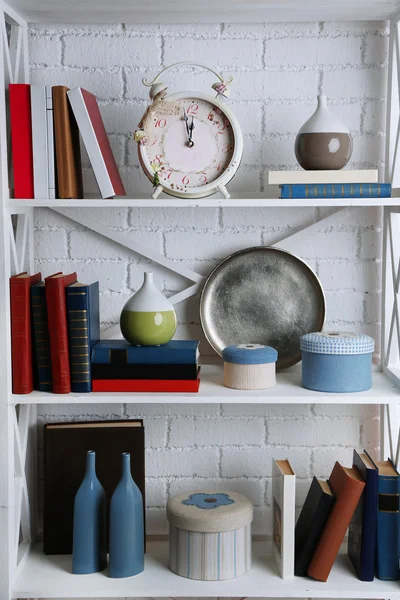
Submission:
M 270 171 L 268 184 L 281 198 L 390 198 L 390 183 L 378 183 L 376 169 L 345 171 Z

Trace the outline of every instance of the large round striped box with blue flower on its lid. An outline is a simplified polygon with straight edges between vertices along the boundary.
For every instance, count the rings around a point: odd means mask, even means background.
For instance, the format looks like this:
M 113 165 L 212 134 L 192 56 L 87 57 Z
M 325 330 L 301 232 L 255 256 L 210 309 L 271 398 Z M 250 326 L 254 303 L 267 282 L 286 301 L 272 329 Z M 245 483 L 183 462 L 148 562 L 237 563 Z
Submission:
M 168 501 L 169 567 L 181 577 L 220 581 L 251 568 L 251 501 L 235 492 L 179 494 Z

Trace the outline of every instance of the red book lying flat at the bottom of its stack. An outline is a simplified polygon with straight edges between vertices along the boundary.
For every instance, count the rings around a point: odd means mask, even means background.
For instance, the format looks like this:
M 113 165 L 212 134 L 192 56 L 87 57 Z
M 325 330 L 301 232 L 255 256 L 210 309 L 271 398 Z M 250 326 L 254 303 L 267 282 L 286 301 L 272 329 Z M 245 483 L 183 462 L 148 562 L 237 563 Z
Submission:
M 200 379 L 93 379 L 92 392 L 171 392 L 195 393 Z

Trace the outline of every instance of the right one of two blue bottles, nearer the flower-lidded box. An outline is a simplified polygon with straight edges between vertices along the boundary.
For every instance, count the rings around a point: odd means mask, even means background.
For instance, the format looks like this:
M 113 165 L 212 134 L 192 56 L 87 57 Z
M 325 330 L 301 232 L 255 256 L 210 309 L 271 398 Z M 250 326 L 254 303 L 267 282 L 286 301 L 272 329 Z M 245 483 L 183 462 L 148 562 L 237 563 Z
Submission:
M 131 456 L 122 454 L 122 476 L 110 506 L 110 577 L 144 571 L 143 498 L 131 475 Z

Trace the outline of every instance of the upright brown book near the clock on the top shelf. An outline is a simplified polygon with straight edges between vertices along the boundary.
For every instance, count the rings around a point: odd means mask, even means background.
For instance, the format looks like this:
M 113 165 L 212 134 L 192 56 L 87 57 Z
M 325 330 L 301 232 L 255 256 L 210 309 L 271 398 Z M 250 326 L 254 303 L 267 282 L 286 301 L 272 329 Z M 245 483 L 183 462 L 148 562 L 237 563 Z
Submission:
M 53 86 L 54 137 L 59 198 L 83 198 L 79 129 L 64 85 Z

